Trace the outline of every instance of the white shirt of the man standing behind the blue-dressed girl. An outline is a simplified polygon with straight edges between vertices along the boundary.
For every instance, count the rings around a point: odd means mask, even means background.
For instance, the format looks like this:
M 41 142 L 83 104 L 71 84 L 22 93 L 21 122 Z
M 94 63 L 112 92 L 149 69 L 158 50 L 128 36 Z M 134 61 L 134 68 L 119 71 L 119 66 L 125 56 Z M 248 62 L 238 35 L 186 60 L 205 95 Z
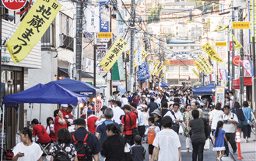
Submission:
M 223 114 L 222 120 L 233 120 L 238 122 L 237 115 L 232 113 L 231 111 L 230 111 L 230 115 Z M 227 124 L 224 123 L 223 130 L 225 130 L 226 133 L 234 133 L 236 132 L 236 125 L 230 122 L 228 122 Z

